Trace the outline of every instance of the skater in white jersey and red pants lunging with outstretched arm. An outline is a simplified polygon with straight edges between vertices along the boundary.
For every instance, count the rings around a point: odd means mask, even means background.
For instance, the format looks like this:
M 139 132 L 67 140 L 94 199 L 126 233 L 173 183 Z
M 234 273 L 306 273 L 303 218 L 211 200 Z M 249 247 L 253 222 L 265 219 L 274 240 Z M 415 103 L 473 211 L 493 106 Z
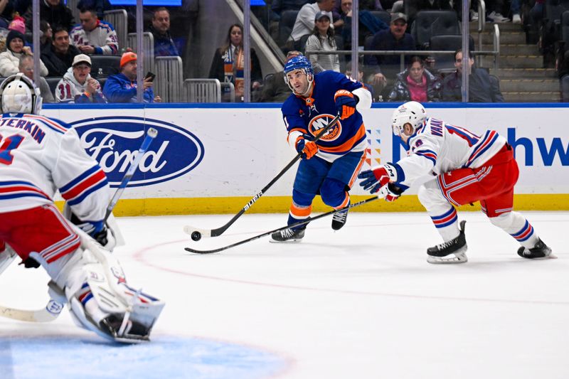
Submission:
M 427 209 L 444 242 L 427 249 L 427 262 L 467 262 L 464 224 L 455 205 L 480 201 L 491 223 L 520 244 L 524 258 L 553 257 L 528 220 L 514 212 L 514 184 L 519 169 L 506 139 L 493 130 L 477 136 L 440 119 L 427 117 L 418 102 L 406 102 L 393 112 L 393 134 L 408 144 L 408 156 L 395 164 L 362 171 L 360 185 L 395 201 L 413 182 L 435 176 L 420 186 L 419 201 Z

